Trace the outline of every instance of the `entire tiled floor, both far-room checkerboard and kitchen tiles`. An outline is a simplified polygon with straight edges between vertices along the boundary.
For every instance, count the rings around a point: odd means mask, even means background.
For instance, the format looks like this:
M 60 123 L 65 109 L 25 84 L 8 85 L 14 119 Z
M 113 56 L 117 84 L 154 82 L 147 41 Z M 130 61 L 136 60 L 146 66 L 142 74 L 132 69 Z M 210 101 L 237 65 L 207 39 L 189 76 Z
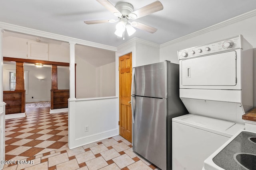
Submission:
M 5 156 L 16 164 L 4 170 L 160 170 L 119 135 L 68 149 L 68 113 L 50 114 L 49 107 L 26 111 L 27 117 L 6 120 Z

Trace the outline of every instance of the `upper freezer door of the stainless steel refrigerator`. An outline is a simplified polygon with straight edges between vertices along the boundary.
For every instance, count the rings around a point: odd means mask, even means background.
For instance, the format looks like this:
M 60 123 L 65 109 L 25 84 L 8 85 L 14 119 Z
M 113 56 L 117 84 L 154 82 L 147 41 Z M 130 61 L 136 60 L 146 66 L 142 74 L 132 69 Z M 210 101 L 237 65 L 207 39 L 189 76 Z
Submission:
M 165 61 L 134 67 L 132 95 L 167 98 L 167 64 Z

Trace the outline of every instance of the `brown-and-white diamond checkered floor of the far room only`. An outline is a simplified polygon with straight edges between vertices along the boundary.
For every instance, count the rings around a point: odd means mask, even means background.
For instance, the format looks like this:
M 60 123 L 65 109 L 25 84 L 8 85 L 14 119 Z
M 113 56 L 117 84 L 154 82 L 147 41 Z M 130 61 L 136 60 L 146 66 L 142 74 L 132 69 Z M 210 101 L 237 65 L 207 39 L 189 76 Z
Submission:
M 29 158 L 36 156 L 45 148 L 60 149 L 68 146 L 68 138 L 64 138 L 68 135 L 67 112 L 52 115 L 50 107 L 47 107 L 26 109 L 26 113 L 26 117 L 6 120 L 6 158 L 13 156 Z M 60 117 L 60 119 L 56 119 L 56 117 Z M 55 130 L 60 127 L 63 127 L 62 130 Z M 62 138 L 66 140 L 58 141 Z M 40 145 L 41 143 L 43 145 Z M 24 147 L 30 148 L 25 149 Z

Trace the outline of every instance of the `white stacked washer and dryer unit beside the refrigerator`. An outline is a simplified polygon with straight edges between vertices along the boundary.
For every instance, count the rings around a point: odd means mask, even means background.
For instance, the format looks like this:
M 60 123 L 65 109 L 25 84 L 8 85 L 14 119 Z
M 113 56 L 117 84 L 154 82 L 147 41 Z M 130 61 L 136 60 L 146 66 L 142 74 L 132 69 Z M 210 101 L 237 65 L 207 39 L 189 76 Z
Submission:
M 172 119 L 172 170 L 200 170 L 245 125 L 253 107 L 252 45 L 242 35 L 178 51 L 180 99 Z

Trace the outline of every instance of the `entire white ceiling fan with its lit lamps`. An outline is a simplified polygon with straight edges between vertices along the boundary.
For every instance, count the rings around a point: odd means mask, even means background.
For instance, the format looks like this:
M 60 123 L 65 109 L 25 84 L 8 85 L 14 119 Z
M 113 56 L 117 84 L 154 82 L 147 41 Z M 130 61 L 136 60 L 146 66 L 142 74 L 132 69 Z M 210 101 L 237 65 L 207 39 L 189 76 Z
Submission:
M 100 4 L 102 4 L 107 10 L 112 12 L 114 16 L 118 17 L 118 20 L 92 20 L 92 21 L 84 21 L 86 24 L 96 24 L 96 23 L 115 23 L 116 24 L 116 31 L 115 34 L 118 37 L 123 37 L 125 30 L 127 31 L 128 35 L 132 35 L 136 29 L 142 29 L 144 31 L 148 31 L 149 33 L 154 33 L 156 32 L 156 28 L 151 27 L 149 25 L 137 22 L 137 21 L 130 21 L 136 20 L 138 18 L 141 18 L 143 16 L 152 14 L 154 12 L 158 12 L 162 9 L 164 9 L 162 3 L 160 1 L 155 1 L 151 4 L 148 4 L 136 11 L 133 10 L 132 4 L 128 2 L 118 2 L 116 6 L 113 6 L 108 0 L 96 0 Z

